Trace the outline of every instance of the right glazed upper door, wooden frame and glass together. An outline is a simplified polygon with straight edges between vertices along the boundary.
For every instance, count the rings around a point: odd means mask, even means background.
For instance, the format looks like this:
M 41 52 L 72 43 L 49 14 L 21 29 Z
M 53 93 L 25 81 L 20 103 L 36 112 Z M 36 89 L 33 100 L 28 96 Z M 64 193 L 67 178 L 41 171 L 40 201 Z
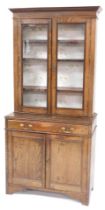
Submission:
M 89 32 L 90 23 L 84 19 L 53 21 L 53 113 L 88 112 Z

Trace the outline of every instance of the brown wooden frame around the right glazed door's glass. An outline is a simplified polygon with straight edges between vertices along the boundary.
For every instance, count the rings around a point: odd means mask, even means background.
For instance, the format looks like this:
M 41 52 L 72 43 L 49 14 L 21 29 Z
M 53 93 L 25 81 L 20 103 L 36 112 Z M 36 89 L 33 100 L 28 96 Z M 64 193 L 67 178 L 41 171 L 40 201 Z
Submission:
M 83 109 L 72 109 L 72 108 L 56 108 L 57 106 L 57 25 L 58 24 L 69 24 L 69 23 L 80 23 L 85 24 L 85 58 L 84 58 L 84 93 L 83 93 Z M 52 113 L 53 114 L 63 114 L 71 116 L 87 116 L 90 110 L 89 106 L 91 103 L 89 84 L 90 84 L 90 27 L 91 20 L 82 17 L 72 17 L 72 16 L 61 16 L 53 18 L 52 22 Z

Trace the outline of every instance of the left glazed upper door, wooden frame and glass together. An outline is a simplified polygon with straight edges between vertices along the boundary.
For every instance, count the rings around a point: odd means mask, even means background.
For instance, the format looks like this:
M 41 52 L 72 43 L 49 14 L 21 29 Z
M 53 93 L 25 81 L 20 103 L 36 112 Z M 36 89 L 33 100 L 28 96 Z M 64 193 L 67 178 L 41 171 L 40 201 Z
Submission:
M 51 23 L 49 19 L 22 19 L 22 22 L 18 23 L 17 54 L 19 66 L 15 72 L 18 79 L 15 80 L 16 106 L 18 106 L 16 109 L 24 112 L 50 113 Z

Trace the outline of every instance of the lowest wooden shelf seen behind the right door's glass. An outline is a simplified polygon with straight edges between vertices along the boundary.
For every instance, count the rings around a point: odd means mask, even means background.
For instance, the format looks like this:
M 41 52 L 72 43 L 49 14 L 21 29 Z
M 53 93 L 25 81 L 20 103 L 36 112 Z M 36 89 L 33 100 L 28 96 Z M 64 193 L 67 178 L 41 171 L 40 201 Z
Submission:
M 59 93 L 83 93 L 83 88 L 58 87 Z

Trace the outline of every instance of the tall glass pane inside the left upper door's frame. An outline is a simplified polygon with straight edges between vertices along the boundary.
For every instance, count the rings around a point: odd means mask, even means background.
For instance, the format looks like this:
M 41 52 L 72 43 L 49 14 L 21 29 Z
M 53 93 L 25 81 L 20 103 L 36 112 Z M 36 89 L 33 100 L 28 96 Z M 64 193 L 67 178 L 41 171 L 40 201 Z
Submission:
M 47 107 L 48 25 L 23 25 L 23 105 Z

